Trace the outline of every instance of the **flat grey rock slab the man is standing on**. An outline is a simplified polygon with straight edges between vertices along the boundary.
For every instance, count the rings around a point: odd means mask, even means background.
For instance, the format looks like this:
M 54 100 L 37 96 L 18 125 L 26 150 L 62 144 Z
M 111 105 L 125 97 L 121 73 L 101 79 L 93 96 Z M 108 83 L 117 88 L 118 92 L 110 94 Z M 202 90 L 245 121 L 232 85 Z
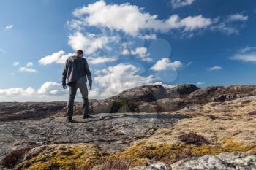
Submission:
M 12 150 L 42 144 L 93 143 L 102 150 L 119 150 L 130 142 L 154 134 L 157 128 L 170 128 L 181 115 L 157 113 L 102 113 L 75 123 L 66 117 L 42 120 L 0 122 L 0 158 Z

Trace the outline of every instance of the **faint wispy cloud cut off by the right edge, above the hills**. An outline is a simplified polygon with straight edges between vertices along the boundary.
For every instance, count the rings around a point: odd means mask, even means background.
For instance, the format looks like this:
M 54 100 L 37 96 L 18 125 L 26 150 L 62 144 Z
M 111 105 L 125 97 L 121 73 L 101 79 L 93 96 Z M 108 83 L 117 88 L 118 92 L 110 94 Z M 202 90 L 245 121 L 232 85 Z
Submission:
M 244 47 L 238 53 L 233 55 L 231 59 L 244 62 L 255 62 L 256 47 Z

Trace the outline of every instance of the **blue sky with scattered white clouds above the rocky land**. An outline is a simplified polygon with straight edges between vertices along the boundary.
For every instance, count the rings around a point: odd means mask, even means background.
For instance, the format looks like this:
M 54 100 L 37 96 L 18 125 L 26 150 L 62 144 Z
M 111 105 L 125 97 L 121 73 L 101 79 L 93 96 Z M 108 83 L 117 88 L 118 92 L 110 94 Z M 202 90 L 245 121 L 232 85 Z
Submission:
M 83 49 L 90 98 L 138 85 L 255 84 L 256 1 L 1 1 L 0 101 L 64 101 Z

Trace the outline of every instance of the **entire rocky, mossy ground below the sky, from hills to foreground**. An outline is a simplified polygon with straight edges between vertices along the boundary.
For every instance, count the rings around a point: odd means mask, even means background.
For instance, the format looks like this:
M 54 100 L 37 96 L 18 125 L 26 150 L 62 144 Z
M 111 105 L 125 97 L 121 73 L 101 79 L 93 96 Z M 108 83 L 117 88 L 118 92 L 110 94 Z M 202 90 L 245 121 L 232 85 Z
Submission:
M 140 86 L 74 123 L 66 102 L 0 103 L 0 169 L 255 169 L 255 89 Z

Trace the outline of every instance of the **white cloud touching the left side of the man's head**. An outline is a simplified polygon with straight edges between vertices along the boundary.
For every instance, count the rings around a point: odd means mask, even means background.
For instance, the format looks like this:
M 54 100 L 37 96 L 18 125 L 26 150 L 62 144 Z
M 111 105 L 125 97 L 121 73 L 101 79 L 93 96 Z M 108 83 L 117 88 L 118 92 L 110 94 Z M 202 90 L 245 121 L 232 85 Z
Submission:
M 51 63 L 65 63 L 69 56 L 74 55 L 74 53 L 66 54 L 64 51 L 59 51 L 53 53 L 52 55 L 47 55 L 44 58 L 41 58 L 38 62 L 42 65 L 48 65 Z

